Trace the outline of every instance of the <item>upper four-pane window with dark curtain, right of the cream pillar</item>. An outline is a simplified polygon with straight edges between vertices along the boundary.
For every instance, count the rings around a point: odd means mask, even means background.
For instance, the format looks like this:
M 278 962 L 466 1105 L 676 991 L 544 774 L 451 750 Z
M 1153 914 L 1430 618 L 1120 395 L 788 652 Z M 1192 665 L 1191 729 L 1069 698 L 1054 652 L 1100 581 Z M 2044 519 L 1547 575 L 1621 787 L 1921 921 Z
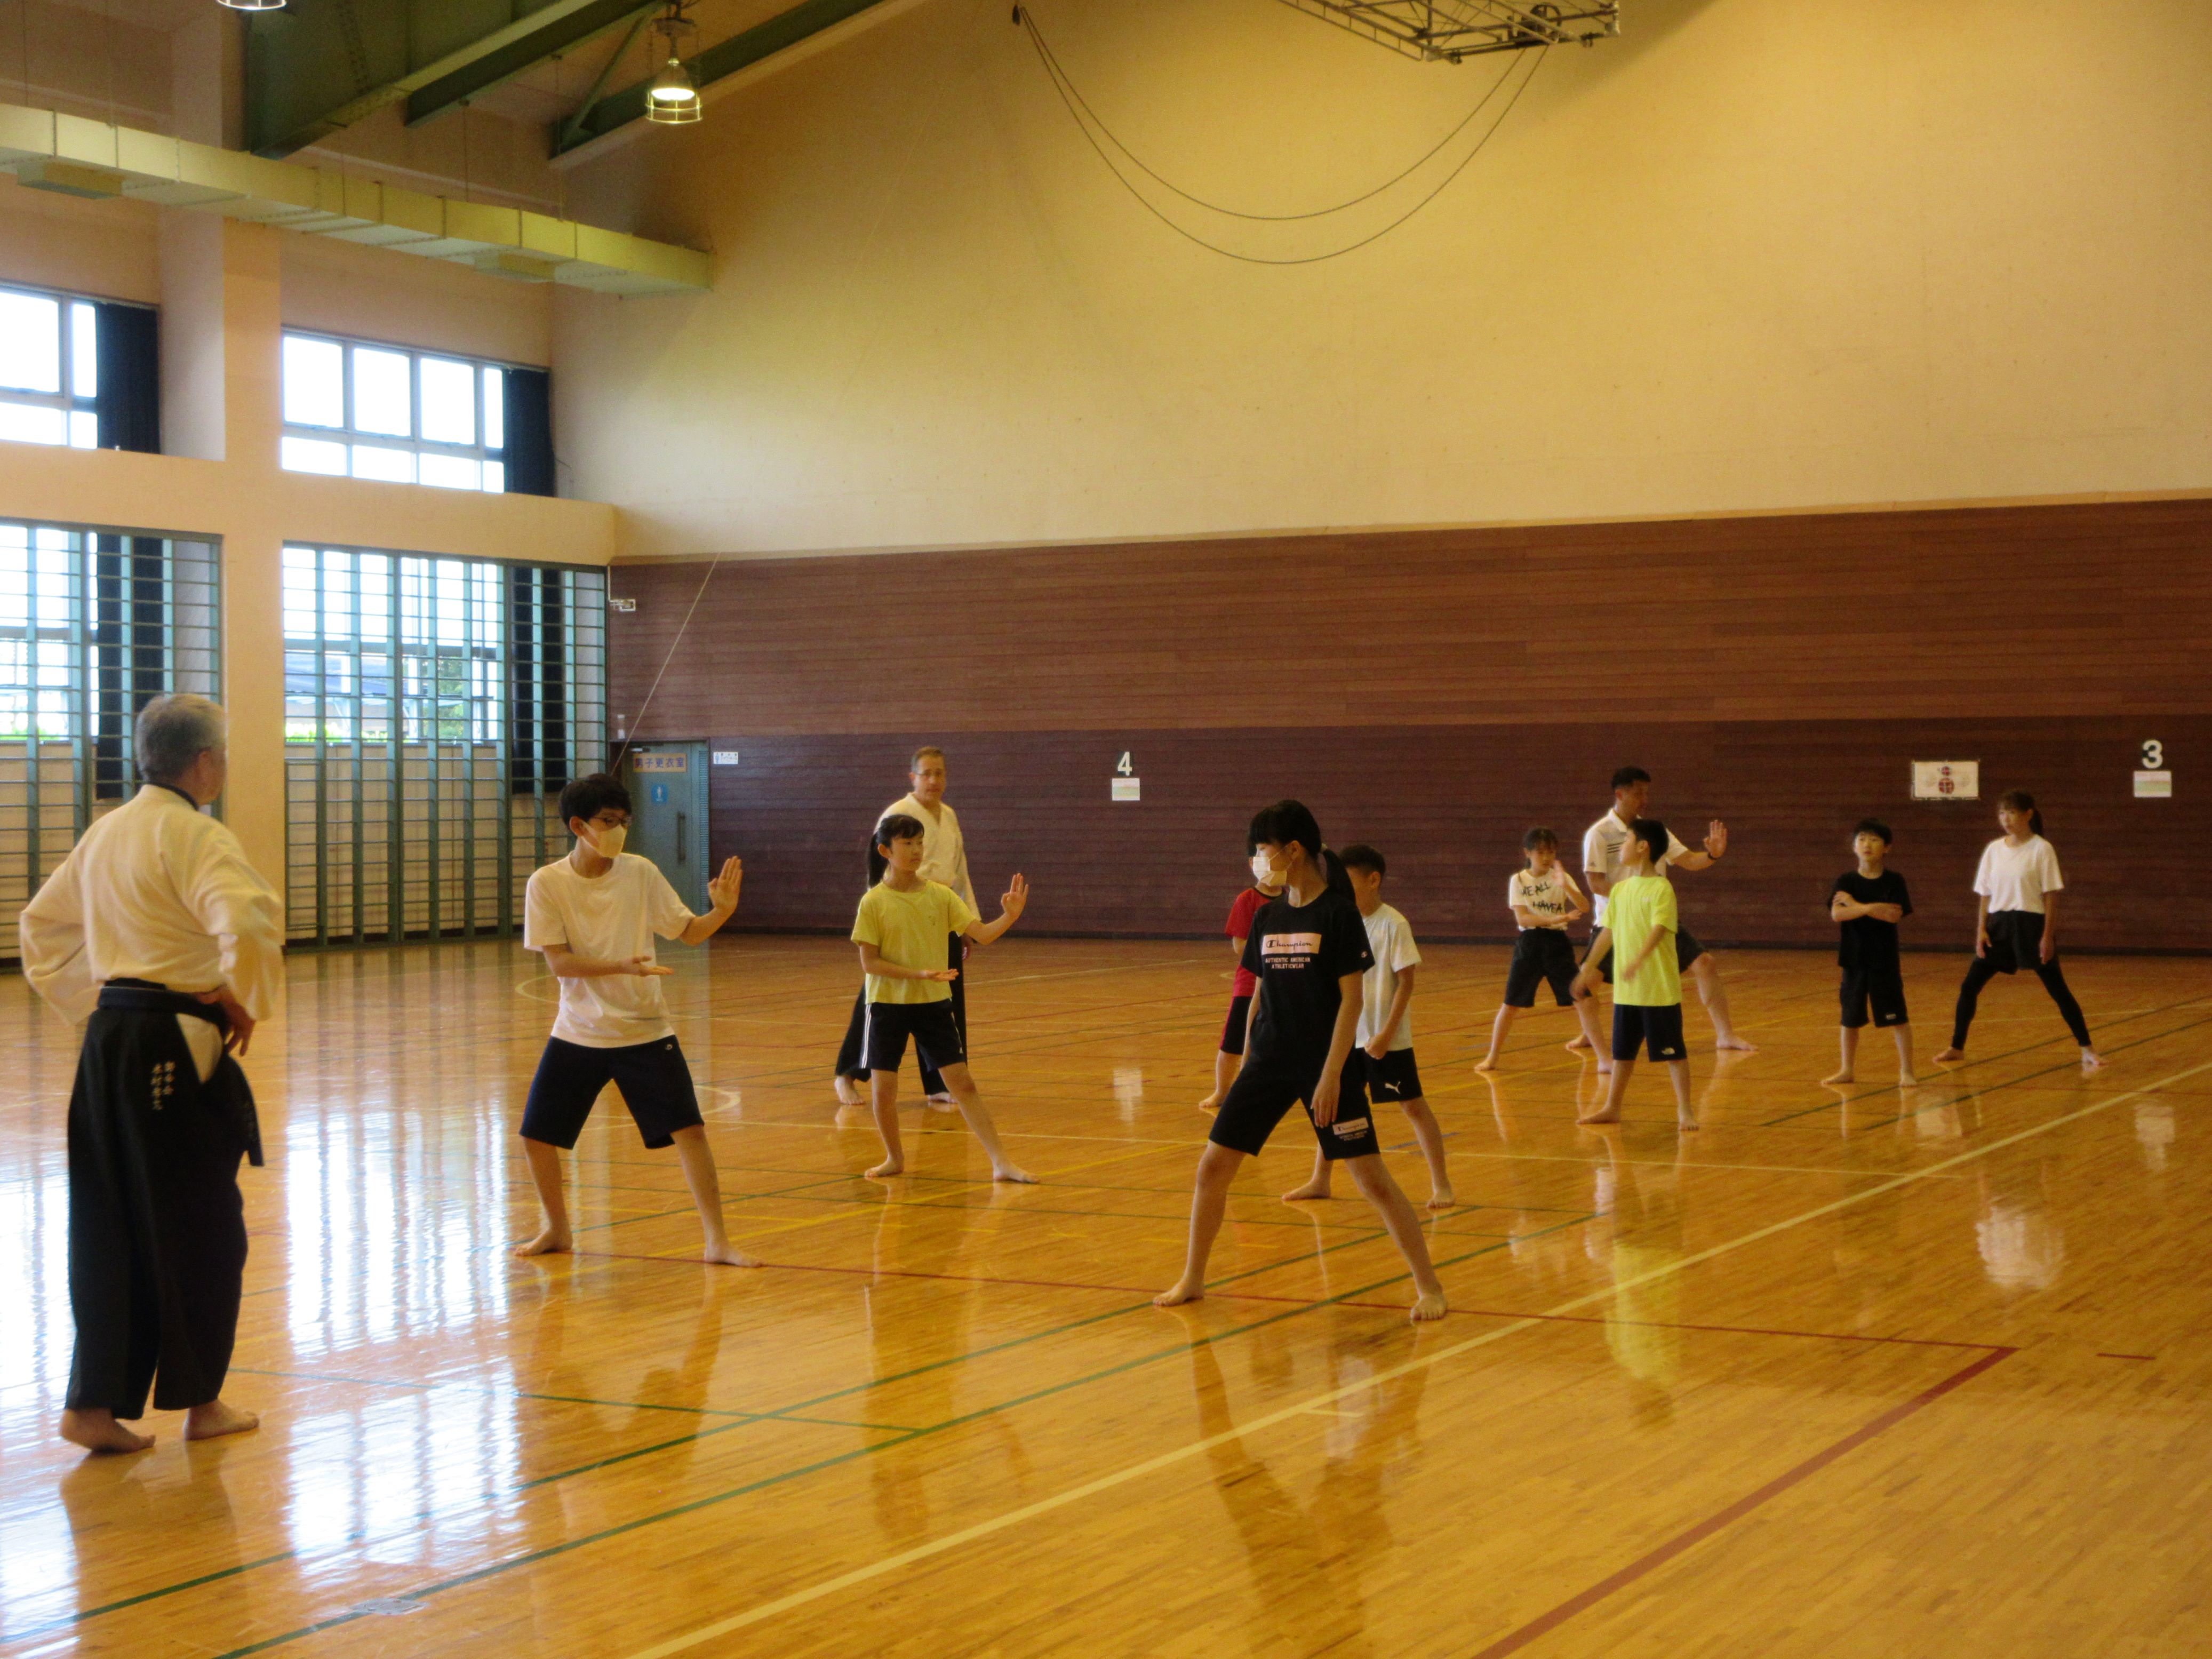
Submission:
M 542 398 L 542 383 L 544 372 L 288 332 L 279 460 L 296 473 L 549 493 L 509 465 L 533 436 L 515 427 L 538 425 L 515 403 Z

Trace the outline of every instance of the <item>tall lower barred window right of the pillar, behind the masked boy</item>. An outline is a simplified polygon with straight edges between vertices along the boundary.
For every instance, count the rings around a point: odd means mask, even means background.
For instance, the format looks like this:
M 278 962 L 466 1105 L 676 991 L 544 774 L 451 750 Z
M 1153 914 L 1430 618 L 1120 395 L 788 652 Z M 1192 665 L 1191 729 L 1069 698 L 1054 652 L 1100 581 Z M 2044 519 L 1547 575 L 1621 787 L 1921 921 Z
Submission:
M 606 752 L 606 573 L 288 546 L 290 929 L 511 933 Z

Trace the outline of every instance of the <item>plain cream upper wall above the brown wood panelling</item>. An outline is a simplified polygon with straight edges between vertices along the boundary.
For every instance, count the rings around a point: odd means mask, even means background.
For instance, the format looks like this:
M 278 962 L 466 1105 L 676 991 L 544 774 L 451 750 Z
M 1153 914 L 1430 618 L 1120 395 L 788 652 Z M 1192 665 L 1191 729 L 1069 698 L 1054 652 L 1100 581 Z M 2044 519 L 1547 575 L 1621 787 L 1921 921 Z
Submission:
M 1276 0 L 1037 11 L 1254 212 L 1389 177 L 1498 73 Z M 684 555 L 2212 484 L 2212 7 L 1624 11 L 1411 223 L 1261 268 L 1104 173 L 1004 0 L 927 0 L 577 170 L 721 270 L 555 299 L 564 487 Z M 1172 215 L 1294 254 L 1400 206 Z

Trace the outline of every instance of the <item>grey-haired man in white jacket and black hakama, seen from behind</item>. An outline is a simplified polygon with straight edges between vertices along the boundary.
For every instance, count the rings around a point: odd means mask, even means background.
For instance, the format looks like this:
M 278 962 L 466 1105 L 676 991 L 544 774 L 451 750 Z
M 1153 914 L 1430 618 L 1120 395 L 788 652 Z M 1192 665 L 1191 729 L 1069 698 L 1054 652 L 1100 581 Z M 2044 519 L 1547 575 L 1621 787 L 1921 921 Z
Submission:
M 84 832 L 20 920 L 31 989 L 86 1022 L 69 1097 L 77 1352 L 60 1431 L 91 1451 L 153 1444 L 124 1427 L 148 1387 L 157 1411 L 186 1411 L 186 1440 L 259 1425 L 221 1398 L 246 1272 L 239 1157 L 261 1164 L 230 1055 L 276 1011 L 283 902 L 201 812 L 230 772 L 221 708 L 146 703 L 137 768 L 137 796 Z

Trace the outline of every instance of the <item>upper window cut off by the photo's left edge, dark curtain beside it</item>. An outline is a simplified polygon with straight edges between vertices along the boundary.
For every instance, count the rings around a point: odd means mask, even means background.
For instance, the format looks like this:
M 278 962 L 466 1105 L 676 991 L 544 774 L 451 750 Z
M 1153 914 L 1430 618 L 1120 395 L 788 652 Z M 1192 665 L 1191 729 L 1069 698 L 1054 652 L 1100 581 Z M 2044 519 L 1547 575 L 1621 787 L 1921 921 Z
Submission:
M 159 449 L 155 312 L 0 288 L 0 438 Z

